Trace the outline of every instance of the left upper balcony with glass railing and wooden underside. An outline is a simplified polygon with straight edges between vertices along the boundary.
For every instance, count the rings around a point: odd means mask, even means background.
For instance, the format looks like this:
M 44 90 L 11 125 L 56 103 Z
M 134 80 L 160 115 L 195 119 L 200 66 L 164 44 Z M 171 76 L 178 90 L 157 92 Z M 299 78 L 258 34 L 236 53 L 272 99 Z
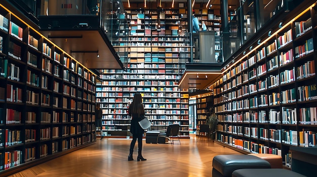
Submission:
M 38 30 L 89 69 L 123 69 L 111 40 L 121 23 L 121 0 L 7 1 L 33 20 Z

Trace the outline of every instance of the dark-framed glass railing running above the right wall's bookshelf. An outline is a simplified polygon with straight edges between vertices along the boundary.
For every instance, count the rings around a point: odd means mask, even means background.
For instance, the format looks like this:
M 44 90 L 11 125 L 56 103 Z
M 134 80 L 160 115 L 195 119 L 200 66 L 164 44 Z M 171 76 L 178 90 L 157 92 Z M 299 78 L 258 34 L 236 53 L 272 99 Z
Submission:
M 303 0 L 290 2 L 284 0 L 245 0 L 236 9 L 235 16 L 221 32 L 221 51 L 224 61 L 232 56 L 251 37 L 256 35 L 263 26 L 281 14 L 289 12 Z M 221 55 L 221 54 L 220 54 Z

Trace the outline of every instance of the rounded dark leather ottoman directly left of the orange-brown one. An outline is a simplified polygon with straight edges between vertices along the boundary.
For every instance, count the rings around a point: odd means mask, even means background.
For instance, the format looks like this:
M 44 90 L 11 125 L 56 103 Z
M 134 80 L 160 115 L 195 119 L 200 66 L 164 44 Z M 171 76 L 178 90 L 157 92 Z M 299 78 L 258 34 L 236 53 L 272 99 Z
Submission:
M 236 169 L 271 167 L 268 161 L 253 155 L 217 155 L 212 164 L 213 177 L 231 177 Z

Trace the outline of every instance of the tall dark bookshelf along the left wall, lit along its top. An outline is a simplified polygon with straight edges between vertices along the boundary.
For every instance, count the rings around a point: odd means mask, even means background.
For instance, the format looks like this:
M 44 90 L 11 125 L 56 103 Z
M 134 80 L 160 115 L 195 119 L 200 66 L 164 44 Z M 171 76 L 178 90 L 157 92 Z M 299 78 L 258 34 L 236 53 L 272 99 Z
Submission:
M 94 142 L 96 75 L 2 5 L 0 41 L 0 174 Z

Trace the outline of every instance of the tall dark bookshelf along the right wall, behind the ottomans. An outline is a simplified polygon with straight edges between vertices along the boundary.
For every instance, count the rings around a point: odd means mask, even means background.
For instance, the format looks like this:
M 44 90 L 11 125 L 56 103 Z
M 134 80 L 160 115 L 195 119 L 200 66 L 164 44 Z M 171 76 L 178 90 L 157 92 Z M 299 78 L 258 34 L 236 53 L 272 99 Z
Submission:
M 311 4 L 282 28 L 275 25 L 272 35 L 260 36 L 264 42 L 252 44 L 212 84 L 219 142 L 244 153 L 281 155 L 286 166 L 290 147 L 315 146 L 317 21 Z

